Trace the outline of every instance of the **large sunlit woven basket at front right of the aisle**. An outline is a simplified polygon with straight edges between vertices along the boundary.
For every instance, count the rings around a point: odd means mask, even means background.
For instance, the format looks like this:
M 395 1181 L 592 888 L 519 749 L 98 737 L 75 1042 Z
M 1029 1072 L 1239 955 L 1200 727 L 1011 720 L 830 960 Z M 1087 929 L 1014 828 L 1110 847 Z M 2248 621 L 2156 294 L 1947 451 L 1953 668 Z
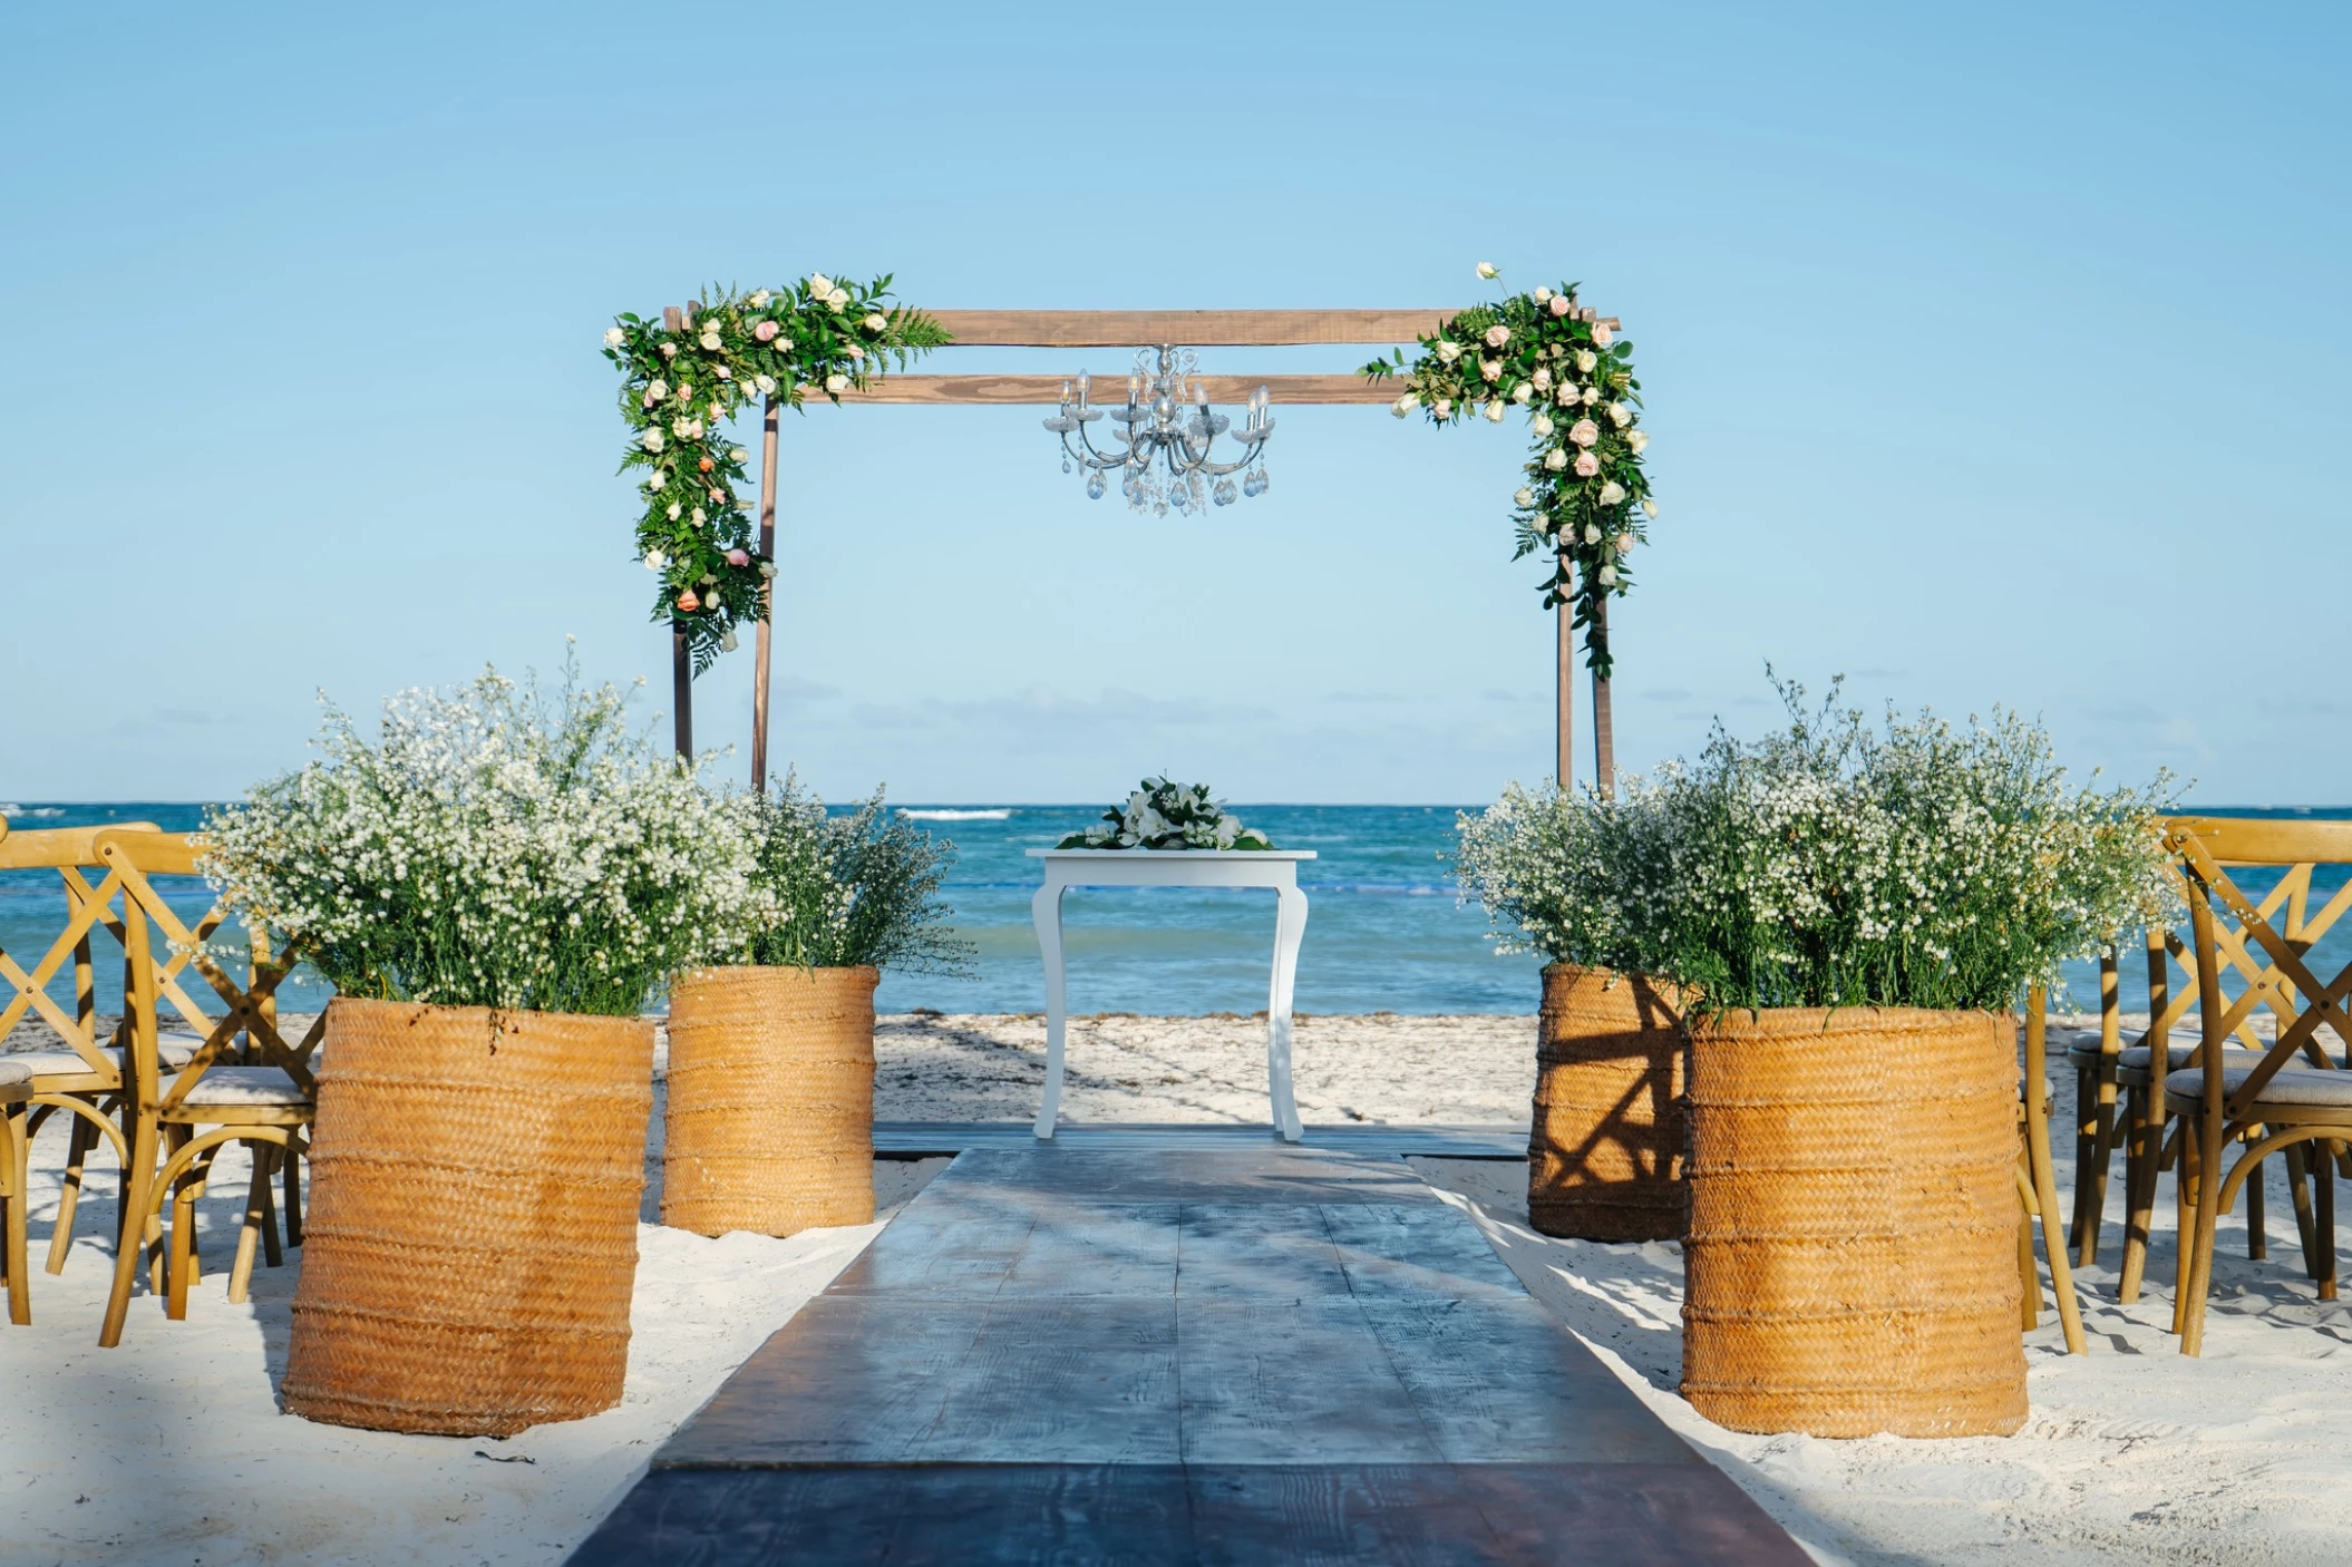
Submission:
M 2009 1016 L 1696 1021 L 1691 1407 L 1825 1438 L 2023 1426 L 2016 1101 Z

